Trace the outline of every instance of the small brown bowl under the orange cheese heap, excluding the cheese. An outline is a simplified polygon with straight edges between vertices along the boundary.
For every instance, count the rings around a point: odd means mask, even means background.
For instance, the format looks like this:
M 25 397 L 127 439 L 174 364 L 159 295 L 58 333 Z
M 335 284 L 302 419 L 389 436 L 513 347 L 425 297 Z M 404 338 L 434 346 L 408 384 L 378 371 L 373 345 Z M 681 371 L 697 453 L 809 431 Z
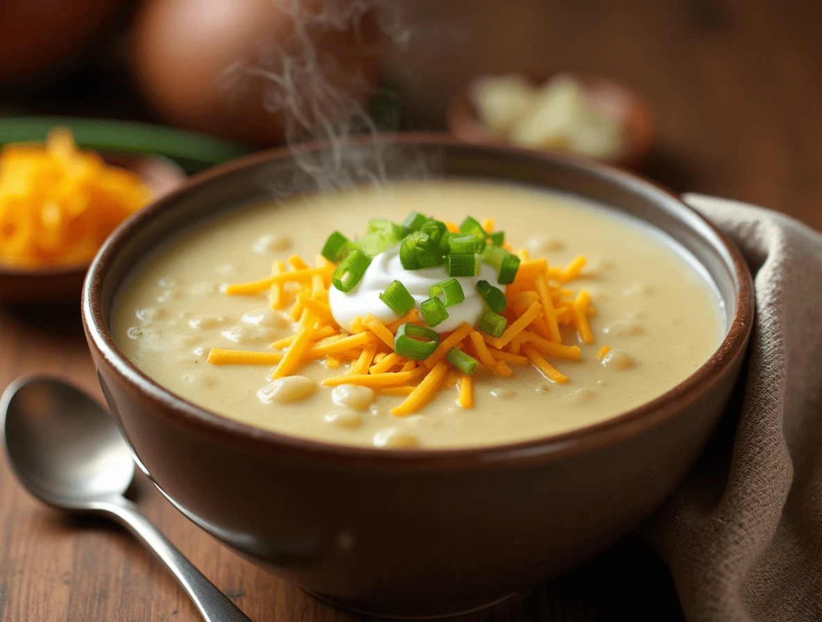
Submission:
M 171 160 L 132 154 L 104 154 L 106 163 L 140 175 L 155 197 L 168 194 L 186 178 Z M 87 263 L 53 268 L 12 268 L 0 263 L 0 302 L 60 302 L 76 300 L 83 288 Z

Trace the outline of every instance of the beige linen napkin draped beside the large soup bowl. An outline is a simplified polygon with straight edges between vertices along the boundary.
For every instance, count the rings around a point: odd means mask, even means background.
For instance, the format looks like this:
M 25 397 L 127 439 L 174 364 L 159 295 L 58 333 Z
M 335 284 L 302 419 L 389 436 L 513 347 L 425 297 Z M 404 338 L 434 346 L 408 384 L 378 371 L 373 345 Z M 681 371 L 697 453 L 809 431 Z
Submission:
M 753 205 L 685 200 L 746 256 L 755 327 L 738 402 L 644 530 L 689 622 L 822 620 L 822 235 Z

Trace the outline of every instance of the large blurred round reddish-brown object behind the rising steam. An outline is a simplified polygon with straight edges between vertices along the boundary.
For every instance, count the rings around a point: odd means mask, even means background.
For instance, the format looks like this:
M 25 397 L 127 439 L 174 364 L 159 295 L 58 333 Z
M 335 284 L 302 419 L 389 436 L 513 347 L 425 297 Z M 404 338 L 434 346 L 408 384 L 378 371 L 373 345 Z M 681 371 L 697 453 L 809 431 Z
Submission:
M 363 26 L 359 38 L 352 30 L 331 29 L 315 41 L 344 67 L 341 75 L 361 71 L 373 85 L 374 29 L 370 20 Z M 226 71 L 236 63 L 257 66 L 261 40 L 288 46 L 291 35 L 290 18 L 273 0 L 146 0 L 132 33 L 136 81 L 157 113 L 175 125 L 277 144 L 284 140 L 282 117 L 263 105 L 270 82 L 259 76 L 231 81 Z

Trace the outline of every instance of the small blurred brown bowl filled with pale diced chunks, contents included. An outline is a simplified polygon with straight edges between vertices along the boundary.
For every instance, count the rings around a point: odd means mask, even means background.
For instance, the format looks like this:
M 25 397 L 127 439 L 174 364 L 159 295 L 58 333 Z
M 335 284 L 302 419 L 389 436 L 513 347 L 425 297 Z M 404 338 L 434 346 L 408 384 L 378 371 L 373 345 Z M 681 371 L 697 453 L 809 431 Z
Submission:
M 656 137 L 644 101 L 616 82 L 560 73 L 479 76 L 448 108 L 450 131 L 472 143 L 504 143 L 642 168 Z

